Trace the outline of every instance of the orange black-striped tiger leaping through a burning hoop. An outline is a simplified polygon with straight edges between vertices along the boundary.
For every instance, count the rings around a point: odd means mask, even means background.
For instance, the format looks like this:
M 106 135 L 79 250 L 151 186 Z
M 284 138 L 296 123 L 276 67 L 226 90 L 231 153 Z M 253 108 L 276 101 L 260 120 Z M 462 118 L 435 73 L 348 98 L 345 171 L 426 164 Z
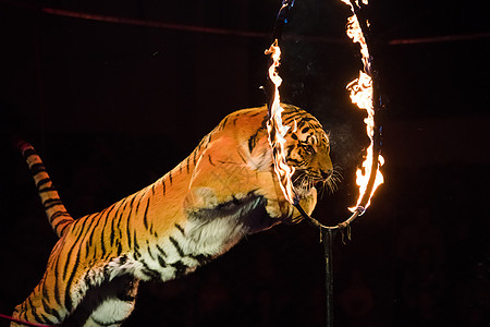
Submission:
M 329 135 L 307 111 L 282 105 L 286 162 L 299 205 L 311 214 L 317 187 L 332 177 Z M 267 106 L 228 114 L 193 153 L 145 189 L 100 213 L 74 219 L 34 147 L 17 143 L 49 223 L 59 237 L 40 282 L 21 304 L 19 322 L 120 326 L 139 281 L 194 271 L 248 234 L 302 216 L 273 170 Z

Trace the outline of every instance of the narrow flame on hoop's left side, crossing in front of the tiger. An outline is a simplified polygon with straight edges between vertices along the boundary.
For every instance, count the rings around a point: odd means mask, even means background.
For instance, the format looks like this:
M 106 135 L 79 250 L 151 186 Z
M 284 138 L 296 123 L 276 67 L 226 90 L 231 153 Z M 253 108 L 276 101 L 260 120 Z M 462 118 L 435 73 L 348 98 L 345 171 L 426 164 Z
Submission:
M 274 84 L 274 97 L 273 102 L 270 106 L 270 117 L 267 122 L 267 132 L 269 134 L 269 143 L 272 147 L 273 155 L 273 164 L 274 171 L 280 181 L 279 185 L 281 186 L 282 193 L 284 197 L 291 203 L 295 203 L 296 195 L 293 189 L 293 182 L 291 178 L 294 173 L 294 167 L 290 167 L 286 164 L 285 157 L 285 134 L 289 131 L 290 126 L 284 126 L 282 124 L 282 111 L 284 109 L 281 107 L 281 99 L 279 95 L 279 86 L 281 86 L 282 78 L 278 74 L 278 66 L 281 60 L 281 49 L 278 46 L 278 40 L 270 46 L 268 50 L 266 50 L 266 55 L 270 55 L 272 58 L 272 64 L 269 68 L 269 78 Z

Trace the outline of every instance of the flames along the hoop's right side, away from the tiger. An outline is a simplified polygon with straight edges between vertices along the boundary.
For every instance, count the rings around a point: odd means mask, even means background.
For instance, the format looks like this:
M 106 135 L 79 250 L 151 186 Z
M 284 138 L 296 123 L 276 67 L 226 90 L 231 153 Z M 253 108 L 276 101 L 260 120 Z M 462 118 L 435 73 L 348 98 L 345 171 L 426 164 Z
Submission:
M 372 107 L 372 78 L 369 76 L 371 72 L 370 64 L 370 55 L 369 49 L 366 44 L 366 39 L 364 37 L 363 31 L 359 25 L 359 21 L 354 11 L 354 7 L 350 0 L 341 0 L 342 2 L 348 4 L 351 7 L 352 12 L 354 13 L 351 17 L 347 19 L 347 27 L 346 34 L 352 39 L 353 43 L 358 43 L 360 45 L 360 55 L 363 56 L 363 65 L 364 71 L 359 72 L 359 77 L 348 83 L 346 88 L 351 92 L 351 100 L 353 104 L 357 105 L 357 107 L 362 110 L 366 110 L 367 118 L 364 120 L 366 123 L 366 134 L 371 141 L 370 146 L 367 149 L 366 158 L 362 164 L 362 169 L 357 169 L 356 171 L 356 183 L 359 186 L 359 197 L 357 199 L 357 205 L 355 207 L 348 208 L 351 211 L 356 210 L 357 207 L 362 205 L 362 199 L 364 194 L 366 193 L 367 184 L 369 182 L 369 177 L 371 175 L 372 170 L 372 156 L 373 156 L 373 135 L 375 135 L 375 109 Z M 355 0 L 356 4 L 359 5 L 360 0 Z M 363 0 L 364 4 L 368 4 L 368 0 Z M 375 184 L 372 186 L 371 194 L 369 194 L 368 202 L 364 205 L 363 209 L 366 209 L 370 202 L 371 197 L 376 192 L 376 189 L 383 183 L 383 175 L 379 168 L 384 164 L 384 158 L 379 155 L 378 157 L 378 167 L 376 167 L 376 179 Z

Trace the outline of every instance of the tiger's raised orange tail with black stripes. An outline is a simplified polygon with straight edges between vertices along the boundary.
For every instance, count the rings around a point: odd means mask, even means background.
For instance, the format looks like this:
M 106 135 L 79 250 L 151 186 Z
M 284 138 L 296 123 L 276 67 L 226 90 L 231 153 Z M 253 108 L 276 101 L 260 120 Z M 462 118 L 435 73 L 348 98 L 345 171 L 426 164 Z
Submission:
M 42 160 L 37 155 L 34 147 L 21 140 L 17 140 L 15 145 L 21 150 L 24 159 L 27 161 L 30 174 L 36 183 L 37 192 L 41 199 L 46 215 L 48 216 L 49 223 L 57 235 L 61 238 L 74 219 L 66 211 L 66 208 L 60 199 L 58 191 L 52 184 L 51 178 L 46 171 Z

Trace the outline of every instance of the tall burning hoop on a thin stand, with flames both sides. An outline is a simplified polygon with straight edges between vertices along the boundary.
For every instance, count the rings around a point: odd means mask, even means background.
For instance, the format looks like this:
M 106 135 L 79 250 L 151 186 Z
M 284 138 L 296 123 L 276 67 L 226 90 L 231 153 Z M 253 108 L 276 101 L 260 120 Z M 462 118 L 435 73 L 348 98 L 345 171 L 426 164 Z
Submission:
M 384 164 L 381 152 L 381 122 L 379 112 L 382 108 L 381 97 L 379 94 L 379 74 L 373 66 L 373 57 L 369 49 L 370 29 L 369 23 L 364 17 L 362 9 L 368 4 L 368 0 L 341 0 L 351 7 L 353 15 L 347 20 L 347 36 L 353 43 L 358 43 L 360 46 L 363 70 L 359 72 L 359 77 L 348 83 L 346 88 L 351 93 L 351 100 L 356 104 L 362 110 L 366 110 L 367 118 L 366 133 L 370 140 L 370 145 L 366 152 L 366 157 L 362 164 L 362 169 L 357 169 L 356 183 L 359 186 L 359 196 L 356 206 L 348 208 L 353 214 L 345 221 L 334 226 L 327 227 L 321 225 L 318 220 L 311 218 L 299 205 L 295 197 L 294 189 L 292 186 L 291 177 L 294 169 L 289 167 L 284 157 L 284 135 L 290 129 L 282 125 L 280 105 L 279 86 L 282 83 L 281 77 L 277 72 L 281 49 L 279 48 L 279 40 L 281 38 L 284 24 L 287 22 L 286 16 L 290 9 L 294 5 L 294 0 L 282 1 L 282 7 L 275 20 L 273 31 L 273 43 L 266 55 L 271 55 L 271 65 L 269 68 L 269 87 L 271 95 L 268 102 L 269 121 L 267 124 L 269 133 L 269 143 L 272 147 L 274 171 L 278 175 L 281 190 L 284 197 L 293 204 L 302 216 L 314 227 L 320 230 L 321 240 L 324 247 L 326 259 L 326 290 L 327 290 L 327 326 L 333 326 L 333 269 L 332 269 L 332 241 L 336 231 L 342 231 L 350 228 L 351 223 L 359 216 L 362 216 L 370 204 L 370 199 L 375 194 L 376 189 L 383 183 L 383 175 L 380 172 L 380 167 Z M 372 48 L 371 48 L 372 49 Z M 273 89 L 273 90 L 272 90 Z

